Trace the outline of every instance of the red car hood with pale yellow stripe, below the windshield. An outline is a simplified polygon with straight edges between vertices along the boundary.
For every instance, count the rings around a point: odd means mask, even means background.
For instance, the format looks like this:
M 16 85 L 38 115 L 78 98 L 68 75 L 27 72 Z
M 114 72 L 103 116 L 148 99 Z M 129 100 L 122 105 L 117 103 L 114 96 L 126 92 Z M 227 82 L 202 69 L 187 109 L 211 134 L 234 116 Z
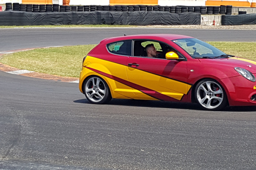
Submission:
M 199 61 L 204 64 L 209 64 L 214 67 L 221 67 L 222 69 L 228 69 L 229 67 L 241 67 L 256 74 L 256 61 L 248 60 L 241 57 L 230 58 L 200 58 Z

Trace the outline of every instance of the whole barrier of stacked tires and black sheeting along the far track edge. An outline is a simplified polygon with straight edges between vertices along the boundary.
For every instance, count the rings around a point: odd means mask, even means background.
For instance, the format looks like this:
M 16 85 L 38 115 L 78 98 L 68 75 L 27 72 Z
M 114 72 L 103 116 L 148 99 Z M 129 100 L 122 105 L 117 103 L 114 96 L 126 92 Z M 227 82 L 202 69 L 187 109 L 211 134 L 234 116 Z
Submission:
M 6 3 L 0 25 L 200 25 L 201 14 L 222 14 L 222 25 L 256 24 L 256 14 L 231 15 L 232 6 L 63 6 Z

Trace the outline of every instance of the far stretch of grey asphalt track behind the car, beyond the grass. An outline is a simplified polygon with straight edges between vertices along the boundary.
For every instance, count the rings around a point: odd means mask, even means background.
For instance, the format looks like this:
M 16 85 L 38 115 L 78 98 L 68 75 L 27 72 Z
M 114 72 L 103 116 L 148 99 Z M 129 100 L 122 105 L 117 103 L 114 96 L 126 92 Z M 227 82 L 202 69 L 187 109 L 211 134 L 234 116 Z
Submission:
M 204 41 L 256 41 L 255 30 L 170 28 L 24 28 L 0 29 L 0 52 L 46 46 L 99 44 L 100 40 L 144 33 L 173 33 Z

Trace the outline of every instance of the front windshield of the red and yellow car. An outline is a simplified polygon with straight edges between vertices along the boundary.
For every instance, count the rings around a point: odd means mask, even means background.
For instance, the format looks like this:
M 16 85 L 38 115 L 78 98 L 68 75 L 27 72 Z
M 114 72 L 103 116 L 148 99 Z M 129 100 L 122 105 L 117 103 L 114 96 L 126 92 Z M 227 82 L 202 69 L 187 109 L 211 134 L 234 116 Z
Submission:
M 196 38 L 176 39 L 173 43 L 179 45 L 193 58 L 230 57 L 218 48 Z

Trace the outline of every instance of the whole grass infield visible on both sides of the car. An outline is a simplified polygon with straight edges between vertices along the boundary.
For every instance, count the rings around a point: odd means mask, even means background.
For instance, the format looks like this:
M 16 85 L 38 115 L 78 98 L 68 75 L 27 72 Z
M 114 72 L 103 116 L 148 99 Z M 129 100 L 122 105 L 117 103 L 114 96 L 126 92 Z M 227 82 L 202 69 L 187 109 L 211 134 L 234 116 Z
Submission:
M 256 61 L 256 43 L 207 42 L 223 52 Z M 84 56 L 95 45 L 79 45 L 57 48 L 34 49 L 26 52 L 5 54 L 0 62 L 19 69 L 79 77 Z

